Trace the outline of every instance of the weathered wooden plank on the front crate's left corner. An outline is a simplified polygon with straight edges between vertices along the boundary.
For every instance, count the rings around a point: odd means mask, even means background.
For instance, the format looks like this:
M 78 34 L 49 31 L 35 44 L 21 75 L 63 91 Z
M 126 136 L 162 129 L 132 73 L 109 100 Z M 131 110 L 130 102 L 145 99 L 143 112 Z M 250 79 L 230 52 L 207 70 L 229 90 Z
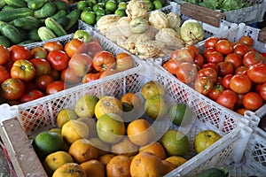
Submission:
M 4 120 L 0 133 L 17 176 L 47 176 L 17 118 Z

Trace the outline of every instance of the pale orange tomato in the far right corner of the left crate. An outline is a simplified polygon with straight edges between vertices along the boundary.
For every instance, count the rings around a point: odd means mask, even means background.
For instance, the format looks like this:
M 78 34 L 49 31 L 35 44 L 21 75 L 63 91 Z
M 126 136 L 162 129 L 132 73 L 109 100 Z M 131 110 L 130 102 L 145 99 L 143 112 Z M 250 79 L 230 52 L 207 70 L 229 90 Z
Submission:
M 132 67 L 134 67 L 134 60 L 128 53 L 120 52 L 116 55 L 115 69 L 117 71 L 122 72 Z

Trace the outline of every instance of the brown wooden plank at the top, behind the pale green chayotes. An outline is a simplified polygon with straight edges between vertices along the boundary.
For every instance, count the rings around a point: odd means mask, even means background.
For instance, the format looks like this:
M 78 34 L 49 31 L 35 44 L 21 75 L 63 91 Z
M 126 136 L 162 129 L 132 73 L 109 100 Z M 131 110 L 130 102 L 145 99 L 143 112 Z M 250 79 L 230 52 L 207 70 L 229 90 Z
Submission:
M 220 27 L 220 20 L 225 19 L 222 12 L 216 12 L 195 4 L 184 3 L 180 5 L 180 12 L 192 19 L 200 20 L 214 27 Z

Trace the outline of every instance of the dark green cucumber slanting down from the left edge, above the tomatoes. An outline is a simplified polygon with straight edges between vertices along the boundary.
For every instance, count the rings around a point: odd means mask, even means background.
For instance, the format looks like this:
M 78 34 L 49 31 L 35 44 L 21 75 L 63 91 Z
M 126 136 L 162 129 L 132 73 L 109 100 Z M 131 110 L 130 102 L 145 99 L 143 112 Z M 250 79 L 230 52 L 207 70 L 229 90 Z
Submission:
M 2 35 L 7 37 L 13 44 L 22 42 L 26 37 L 18 27 L 14 27 L 9 23 L 0 21 L 0 29 Z

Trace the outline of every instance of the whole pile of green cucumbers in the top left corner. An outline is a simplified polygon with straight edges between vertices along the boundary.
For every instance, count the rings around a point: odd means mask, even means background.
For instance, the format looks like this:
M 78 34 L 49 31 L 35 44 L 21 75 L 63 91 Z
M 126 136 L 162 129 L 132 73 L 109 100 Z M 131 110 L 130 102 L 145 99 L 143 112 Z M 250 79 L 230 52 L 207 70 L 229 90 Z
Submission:
M 0 44 L 10 47 L 73 33 L 80 14 L 59 0 L 0 0 Z

